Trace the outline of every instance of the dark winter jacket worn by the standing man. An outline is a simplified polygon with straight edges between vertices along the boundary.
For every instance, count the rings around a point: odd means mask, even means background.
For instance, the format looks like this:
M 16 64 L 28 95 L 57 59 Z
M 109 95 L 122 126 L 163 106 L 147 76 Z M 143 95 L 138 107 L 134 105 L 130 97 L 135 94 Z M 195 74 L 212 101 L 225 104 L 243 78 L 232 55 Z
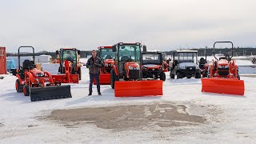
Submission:
M 100 67 L 102 67 L 102 60 L 101 58 L 93 58 L 90 57 L 86 63 L 86 67 L 89 68 L 90 74 L 99 74 L 100 73 Z

